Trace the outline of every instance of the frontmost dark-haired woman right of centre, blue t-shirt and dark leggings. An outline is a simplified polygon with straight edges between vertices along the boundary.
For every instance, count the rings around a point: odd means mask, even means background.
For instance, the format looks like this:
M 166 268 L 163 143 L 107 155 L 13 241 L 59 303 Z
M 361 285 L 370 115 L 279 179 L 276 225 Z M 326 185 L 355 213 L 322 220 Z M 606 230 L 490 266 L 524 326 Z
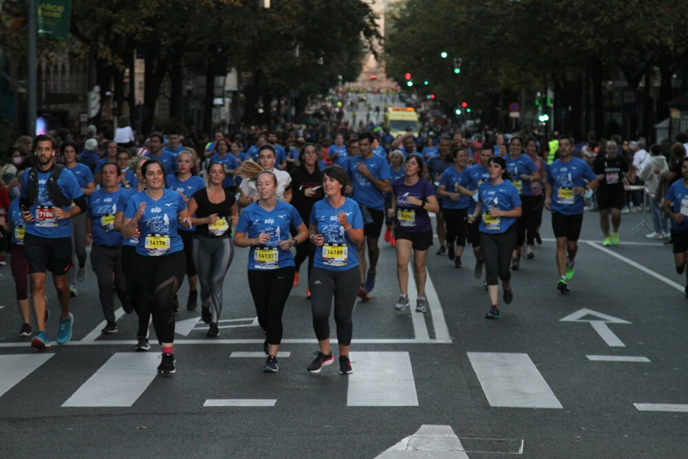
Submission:
M 509 261 L 516 248 L 515 222 L 521 216 L 521 198 L 516 187 L 505 180 L 507 171 L 504 158 L 491 158 L 488 169 L 490 181 L 478 187 L 479 200 L 475 211 L 469 215 L 469 223 L 475 222 L 482 213 L 480 247 L 485 258 L 487 293 L 491 304 L 485 318 L 497 319 L 498 279 L 502 279 L 504 303 L 513 300 Z

